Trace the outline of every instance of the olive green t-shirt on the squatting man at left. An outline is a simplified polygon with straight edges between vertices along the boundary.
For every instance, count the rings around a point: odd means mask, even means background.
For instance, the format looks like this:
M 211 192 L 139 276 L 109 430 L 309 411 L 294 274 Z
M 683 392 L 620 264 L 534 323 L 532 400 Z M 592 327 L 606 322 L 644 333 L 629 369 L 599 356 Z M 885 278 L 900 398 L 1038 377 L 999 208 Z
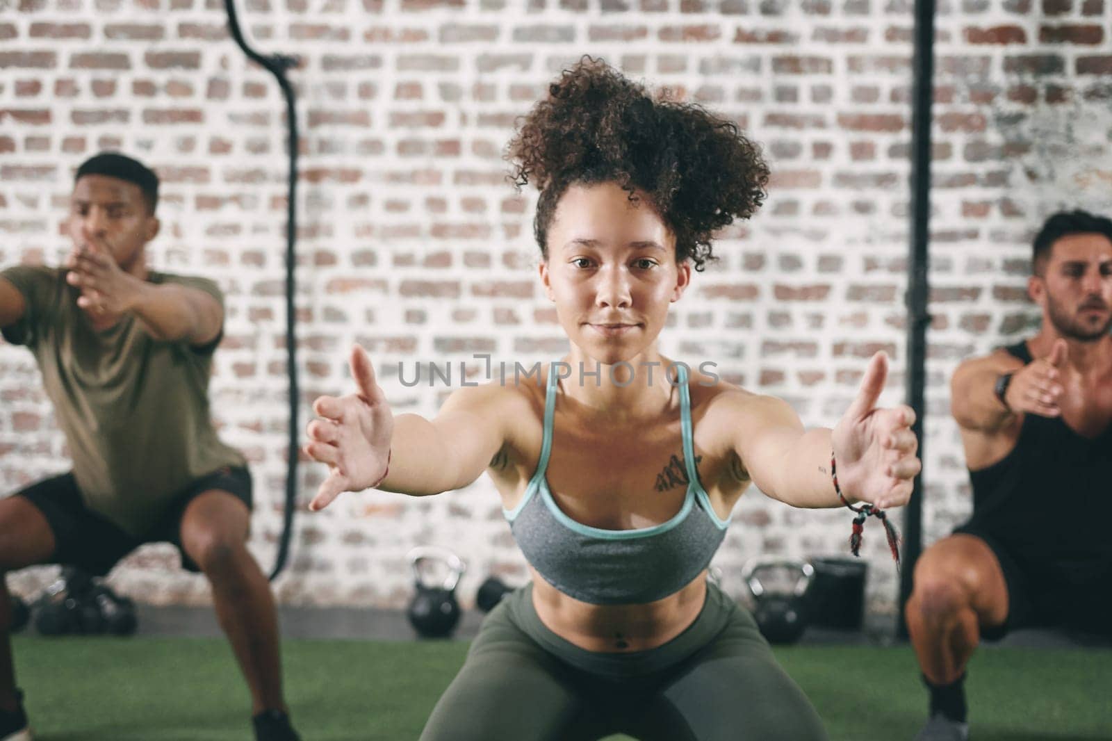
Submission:
M 246 465 L 217 437 L 209 415 L 219 340 L 206 347 L 161 342 L 131 315 L 96 332 L 64 270 L 21 266 L 0 275 L 27 305 L 3 336 L 33 353 L 91 510 L 142 537 L 190 482 Z M 151 270 L 148 280 L 198 288 L 224 303 L 220 289 L 205 278 Z

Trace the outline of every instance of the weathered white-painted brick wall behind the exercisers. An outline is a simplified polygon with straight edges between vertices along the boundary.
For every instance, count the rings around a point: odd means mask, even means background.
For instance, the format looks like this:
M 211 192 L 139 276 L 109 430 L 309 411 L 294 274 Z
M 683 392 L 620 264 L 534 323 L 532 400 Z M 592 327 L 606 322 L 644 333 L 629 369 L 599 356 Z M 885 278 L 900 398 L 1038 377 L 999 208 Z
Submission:
M 2 0 L 0 0 L 2 2 Z M 285 481 L 281 286 L 282 103 L 228 39 L 215 0 L 8 0 L 0 17 L 0 265 L 56 263 L 72 170 L 119 148 L 163 177 L 160 269 L 228 294 L 211 396 L 256 476 L 251 549 L 274 560 Z M 254 1 L 240 12 L 267 51 L 302 59 L 298 306 L 304 401 L 350 388 L 353 342 L 398 412 L 431 415 L 448 388 L 403 387 L 406 364 L 549 359 L 563 347 L 537 290 L 535 198 L 505 181 L 513 121 L 582 53 L 736 118 L 773 165 L 771 196 L 717 245 L 662 338 L 746 387 L 831 425 L 875 348 L 903 399 L 912 3 L 892 0 L 458 2 Z M 1030 237 L 1060 206 L 1108 213 L 1112 136 L 1105 0 L 966 0 L 937 22 L 926 419 L 930 543 L 969 513 L 949 376 L 1031 325 Z M 471 363 L 475 369 L 479 364 Z M 29 354 L 0 346 L 0 490 L 64 467 Z M 455 382 L 458 384 L 458 379 Z M 302 419 L 308 418 L 307 403 Z M 302 467 L 301 507 L 320 480 Z M 737 594 L 762 553 L 842 554 L 845 511 L 743 497 L 716 563 Z M 870 604 L 895 607 L 883 534 L 866 530 Z M 470 564 L 465 600 L 524 562 L 490 484 L 410 501 L 348 495 L 299 513 L 277 589 L 289 603 L 399 605 L 406 551 L 450 544 Z M 31 592 L 50 569 L 11 574 Z M 112 575 L 159 603 L 207 601 L 201 577 L 148 546 Z

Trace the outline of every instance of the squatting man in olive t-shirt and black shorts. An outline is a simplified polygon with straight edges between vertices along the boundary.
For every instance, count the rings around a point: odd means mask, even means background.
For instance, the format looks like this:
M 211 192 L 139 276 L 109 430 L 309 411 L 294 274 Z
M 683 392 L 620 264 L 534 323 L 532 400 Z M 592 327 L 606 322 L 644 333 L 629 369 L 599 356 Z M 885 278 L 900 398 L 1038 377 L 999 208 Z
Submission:
M 103 574 L 141 543 L 173 543 L 212 585 L 256 738 L 296 741 L 274 597 L 246 546 L 250 474 L 209 415 L 222 297 L 210 280 L 147 268 L 157 199 L 158 178 L 140 162 L 92 157 L 77 171 L 64 268 L 0 273 L 0 329 L 34 355 L 73 458 L 71 473 L 0 500 L 0 572 L 63 563 Z M 0 577 L 0 739 L 23 739 L 10 625 Z

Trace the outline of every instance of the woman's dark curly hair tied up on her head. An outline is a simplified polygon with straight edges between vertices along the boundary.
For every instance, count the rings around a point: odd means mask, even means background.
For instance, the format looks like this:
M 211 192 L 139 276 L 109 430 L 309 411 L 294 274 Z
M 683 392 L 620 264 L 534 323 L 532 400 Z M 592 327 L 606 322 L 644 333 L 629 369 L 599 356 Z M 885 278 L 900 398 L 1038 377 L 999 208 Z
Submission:
M 548 227 L 573 184 L 641 191 L 676 237 L 676 260 L 702 270 L 712 235 L 761 207 L 768 166 L 732 121 L 694 103 L 653 98 L 605 62 L 584 57 L 548 87 L 508 147 L 518 187 L 540 190 L 534 233 Z

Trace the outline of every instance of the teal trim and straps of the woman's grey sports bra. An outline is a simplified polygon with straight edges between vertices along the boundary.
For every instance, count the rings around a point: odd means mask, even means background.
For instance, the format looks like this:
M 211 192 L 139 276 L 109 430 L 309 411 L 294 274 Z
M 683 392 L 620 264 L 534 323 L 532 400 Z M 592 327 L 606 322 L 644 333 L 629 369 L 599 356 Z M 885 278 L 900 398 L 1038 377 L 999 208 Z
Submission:
M 683 506 L 679 507 L 674 516 L 668 518 L 658 525 L 652 525 L 649 527 L 637 527 L 634 530 L 607 530 L 604 527 L 593 527 L 592 525 L 584 525 L 569 517 L 552 495 L 552 490 L 548 487 L 548 480 L 546 473 L 548 471 L 548 457 L 552 454 L 553 444 L 553 419 L 556 413 L 556 385 L 558 382 L 555 368 L 548 369 L 548 384 L 545 389 L 545 426 L 544 426 L 544 438 L 540 444 L 540 460 L 537 462 L 537 470 L 533 474 L 533 478 L 529 480 L 529 484 L 525 490 L 522 501 L 513 510 L 506 510 L 503 507 L 503 514 L 506 520 L 513 524 L 514 520 L 520 514 L 525 505 L 529 503 L 537 491 L 540 492 L 542 500 L 545 506 L 552 512 L 553 516 L 568 530 L 579 533 L 580 535 L 586 535 L 588 537 L 595 537 L 599 540 L 610 540 L 620 541 L 634 537 L 648 537 L 651 535 L 657 535 L 659 533 L 667 532 L 682 523 L 684 518 L 691 514 L 692 507 L 698 502 L 701 508 L 711 518 L 719 530 L 726 530 L 729 526 L 733 516 L 722 520 L 715 513 L 714 507 L 711 506 L 711 497 L 707 495 L 706 490 L 698 480 L 698 471 L 695 467 L 695 444 L 692 431 L 692 415 L 691 415 L 691 392 L 687 388 L 687 367 L 677 364 L 677 384 L 679 385 L 679 421 L 681 429 L 683 431 L 683 447 L 684 447 L 684 464 L 687 470 L 687 494 L 684 496 Z

